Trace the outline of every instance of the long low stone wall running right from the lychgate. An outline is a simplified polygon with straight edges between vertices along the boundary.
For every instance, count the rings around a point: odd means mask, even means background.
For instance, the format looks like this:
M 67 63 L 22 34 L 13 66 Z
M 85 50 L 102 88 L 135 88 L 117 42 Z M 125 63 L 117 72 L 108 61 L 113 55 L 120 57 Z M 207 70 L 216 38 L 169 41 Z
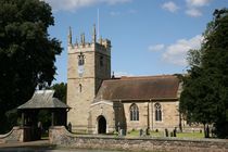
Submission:
M 110 136 L 78 136 L 65 127 L 52 127 L 50 143 L 65 148 L 103 149 L 123 151 L 168 151 L 168 152 L 227 152 L 228 140 L 202 139 L 185 140 L 177 138 L 125 138 Z

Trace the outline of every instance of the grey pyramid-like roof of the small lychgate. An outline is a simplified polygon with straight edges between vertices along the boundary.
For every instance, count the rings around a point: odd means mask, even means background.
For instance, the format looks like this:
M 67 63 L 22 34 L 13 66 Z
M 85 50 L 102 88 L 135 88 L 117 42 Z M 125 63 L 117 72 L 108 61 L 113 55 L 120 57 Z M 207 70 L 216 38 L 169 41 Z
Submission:
M 38 90 L 30 100 L 20 105 L 17 109 L 69 109 L 68 105 L 53 98 L 53 94 L 54 90 Z

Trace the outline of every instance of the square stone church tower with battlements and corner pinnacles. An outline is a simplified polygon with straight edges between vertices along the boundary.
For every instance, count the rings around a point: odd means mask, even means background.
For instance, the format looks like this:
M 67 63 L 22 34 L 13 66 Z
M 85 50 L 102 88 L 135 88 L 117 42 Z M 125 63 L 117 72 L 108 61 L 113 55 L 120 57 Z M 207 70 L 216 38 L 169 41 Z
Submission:
M 91 42 L 86 42 L 85 34 L 80 41 L 72 42 L 69 27 L 67 65 L 67 105 L 72 109 L 67 122 L 73 131 L 87 131 L 89 107 L 101 83 L 111 78 L 111 41 L 100 38 L 97 41 L 93 25 Z

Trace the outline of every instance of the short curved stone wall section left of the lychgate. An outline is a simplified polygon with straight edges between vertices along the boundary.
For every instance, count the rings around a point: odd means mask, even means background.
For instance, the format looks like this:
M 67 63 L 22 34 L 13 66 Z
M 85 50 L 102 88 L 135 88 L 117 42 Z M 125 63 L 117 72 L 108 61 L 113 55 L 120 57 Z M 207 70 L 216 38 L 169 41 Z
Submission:
M 0 135 L 0 143 L 7 142 L 24 142 L 29 141 L 29 128 L 28 127 L 13 127 L 13 129 L 5 134 Z

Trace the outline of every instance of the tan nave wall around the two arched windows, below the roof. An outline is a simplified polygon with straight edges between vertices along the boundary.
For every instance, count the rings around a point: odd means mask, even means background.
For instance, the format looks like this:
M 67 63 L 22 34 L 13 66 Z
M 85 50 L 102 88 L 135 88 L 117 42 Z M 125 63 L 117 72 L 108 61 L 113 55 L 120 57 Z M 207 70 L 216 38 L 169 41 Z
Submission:
M 130 121 L 130 105 L 135 103 L 139 107 L 139 121 Z M 155 103 L 162 106 L 162 121 L 155 121 Z M 127 123 L 127 130 L 147 129 L 148 125 L 151 130 L 164 130 L 165 128 L 173 130 L 179 127 L 178 101 L 153 101 L 153 102 L 125 102 L 124 111 Z M 148 117 L 149 114 L 149 117 Z M 149 122 L 148 122 L 149 121 Z

